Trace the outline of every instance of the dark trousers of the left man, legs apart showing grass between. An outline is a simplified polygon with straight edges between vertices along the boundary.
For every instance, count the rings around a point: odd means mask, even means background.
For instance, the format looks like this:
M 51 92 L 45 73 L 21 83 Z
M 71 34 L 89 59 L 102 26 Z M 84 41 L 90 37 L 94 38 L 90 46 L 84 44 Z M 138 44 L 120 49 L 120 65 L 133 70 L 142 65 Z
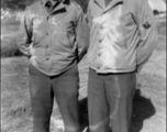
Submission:
M 49 132 L 54 98 L 64 121 L 64 132 L 79 132 L 77 65 L 52 77 L 44 75 L 33 65 L 30 65 L 29 73 L 33 132 Z

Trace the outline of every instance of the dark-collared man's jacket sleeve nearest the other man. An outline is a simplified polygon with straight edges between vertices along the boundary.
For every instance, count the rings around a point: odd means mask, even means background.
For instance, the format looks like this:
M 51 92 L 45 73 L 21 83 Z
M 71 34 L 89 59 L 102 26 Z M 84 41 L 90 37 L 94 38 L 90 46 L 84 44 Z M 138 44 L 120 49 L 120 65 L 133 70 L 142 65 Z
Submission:
M 77 11 L 77 25 L 76 25 L 76 45 L 78 54 L 78 63 L 86 55 L 89 46 L 89 30 L 81 8 Z

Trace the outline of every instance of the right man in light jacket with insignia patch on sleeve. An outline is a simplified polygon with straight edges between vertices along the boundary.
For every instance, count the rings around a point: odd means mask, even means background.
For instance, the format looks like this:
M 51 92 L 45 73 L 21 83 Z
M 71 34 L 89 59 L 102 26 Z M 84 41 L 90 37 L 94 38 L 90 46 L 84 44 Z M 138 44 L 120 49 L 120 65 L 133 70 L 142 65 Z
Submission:
M 146 0 L 90 0 L 88 6 L 90 132 L 130 132 L 136 72 L 157 43 Z

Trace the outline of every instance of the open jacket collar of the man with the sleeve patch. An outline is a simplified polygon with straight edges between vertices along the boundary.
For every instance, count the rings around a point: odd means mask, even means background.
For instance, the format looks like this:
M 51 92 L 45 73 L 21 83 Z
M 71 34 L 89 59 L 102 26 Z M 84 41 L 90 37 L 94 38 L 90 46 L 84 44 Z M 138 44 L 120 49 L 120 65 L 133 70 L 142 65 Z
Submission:
M 99 6 L 104 12 L 113 8 L 119 2 L 123 2 L 123 0 L 112 0 L 107 7 L 104 0 L 93 0 L 96 4 Z

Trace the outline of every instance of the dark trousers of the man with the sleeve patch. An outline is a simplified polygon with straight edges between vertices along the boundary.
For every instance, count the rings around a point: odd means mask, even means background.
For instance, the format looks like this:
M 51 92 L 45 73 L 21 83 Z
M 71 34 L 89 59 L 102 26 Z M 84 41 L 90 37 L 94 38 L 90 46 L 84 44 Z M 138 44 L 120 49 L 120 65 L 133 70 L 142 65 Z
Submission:
M 136 73 L 97 74 L 89 68 L 90 132 L 129 132 Z

